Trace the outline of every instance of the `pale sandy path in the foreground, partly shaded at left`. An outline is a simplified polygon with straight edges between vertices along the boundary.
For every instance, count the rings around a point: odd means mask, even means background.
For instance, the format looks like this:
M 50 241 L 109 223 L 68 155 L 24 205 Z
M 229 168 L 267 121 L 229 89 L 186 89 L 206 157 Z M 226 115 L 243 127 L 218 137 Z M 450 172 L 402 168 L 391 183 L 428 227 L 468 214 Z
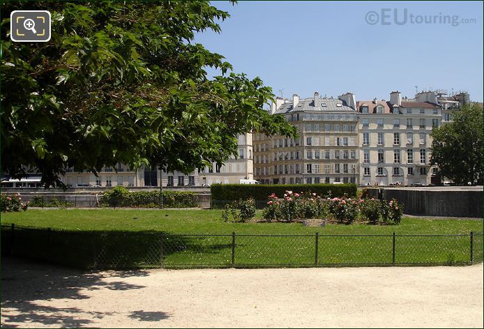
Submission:
M 484 324 L 483 264 L 81 273 L 2 261 L 2 328 Z

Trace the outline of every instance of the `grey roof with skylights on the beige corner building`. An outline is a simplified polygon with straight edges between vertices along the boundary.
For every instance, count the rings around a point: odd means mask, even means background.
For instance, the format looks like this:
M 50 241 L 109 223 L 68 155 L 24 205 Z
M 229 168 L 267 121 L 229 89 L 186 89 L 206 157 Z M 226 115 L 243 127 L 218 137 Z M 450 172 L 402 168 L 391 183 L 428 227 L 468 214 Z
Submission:
M 319 98 L 319 106 L 314 106 L 314 98 L 299 99 L 297 106 L 293 109 L 292 101 L 286 102 L 279 106 L 276 114 L 290 113 L 294 111 L 313 111 L 313 112 L 356 112 L 345 101 L 338 98 Z

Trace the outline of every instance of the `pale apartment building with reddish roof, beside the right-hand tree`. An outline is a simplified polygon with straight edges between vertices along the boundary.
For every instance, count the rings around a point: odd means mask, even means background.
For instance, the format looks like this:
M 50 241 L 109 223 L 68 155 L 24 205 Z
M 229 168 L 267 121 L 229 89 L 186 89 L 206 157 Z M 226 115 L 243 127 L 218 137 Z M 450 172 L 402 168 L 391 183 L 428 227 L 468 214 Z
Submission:
M 432 102 L 402 100 L 392 92 L 390 101 L 359 101 L 363 185 L 435 183 L 430 166 L 430 133 L 442 124 L 441 106 Z

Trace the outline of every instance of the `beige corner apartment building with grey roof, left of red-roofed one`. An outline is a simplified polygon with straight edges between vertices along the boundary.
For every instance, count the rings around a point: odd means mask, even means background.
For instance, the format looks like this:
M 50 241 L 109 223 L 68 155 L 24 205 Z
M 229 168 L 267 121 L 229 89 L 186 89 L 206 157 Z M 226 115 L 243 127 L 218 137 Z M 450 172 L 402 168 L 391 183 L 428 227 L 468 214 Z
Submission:
M 277 98 L 271 113 L 284 115 L 300 138 L 254 134 L 254 177 L 264 184 L 358 182 L 354 95 Z

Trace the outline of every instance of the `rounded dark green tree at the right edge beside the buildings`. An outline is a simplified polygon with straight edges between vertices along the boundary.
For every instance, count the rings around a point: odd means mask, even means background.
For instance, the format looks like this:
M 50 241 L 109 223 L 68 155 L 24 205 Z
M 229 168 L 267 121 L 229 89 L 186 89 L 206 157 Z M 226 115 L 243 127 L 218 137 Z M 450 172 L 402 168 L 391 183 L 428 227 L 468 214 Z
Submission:
M 432 131 L 432 164 L 456 184 L 483 183 L 483 109 L 465 104 L 453 122 Z

